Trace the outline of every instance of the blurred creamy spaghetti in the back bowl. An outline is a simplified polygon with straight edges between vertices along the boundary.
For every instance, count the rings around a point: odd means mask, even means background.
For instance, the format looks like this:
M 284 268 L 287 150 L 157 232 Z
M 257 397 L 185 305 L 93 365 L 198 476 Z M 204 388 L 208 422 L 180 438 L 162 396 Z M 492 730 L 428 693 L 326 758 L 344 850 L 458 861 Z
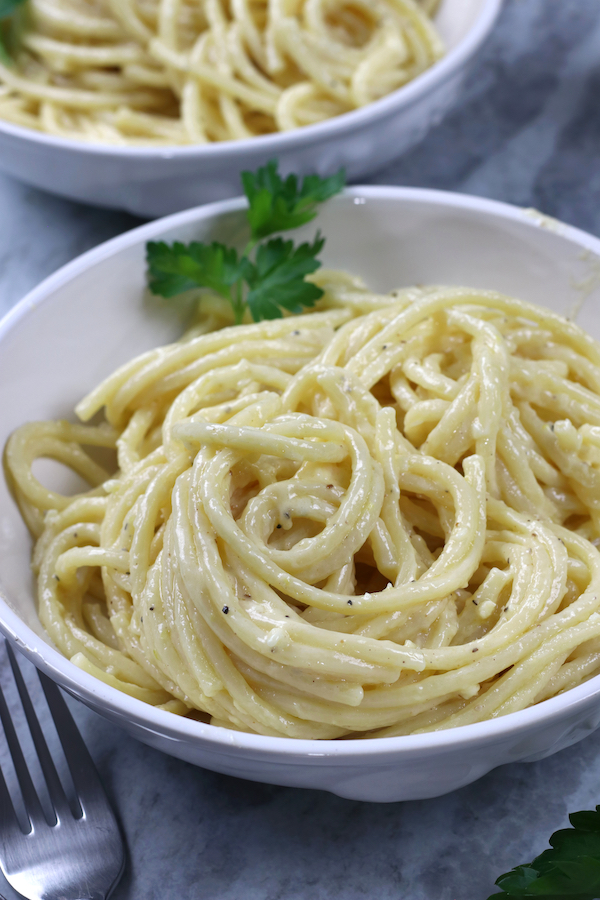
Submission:
M 60 137 L 198 144 L 321 122 L 442 54 L 437 0 L 27 0 L 0 118 Z

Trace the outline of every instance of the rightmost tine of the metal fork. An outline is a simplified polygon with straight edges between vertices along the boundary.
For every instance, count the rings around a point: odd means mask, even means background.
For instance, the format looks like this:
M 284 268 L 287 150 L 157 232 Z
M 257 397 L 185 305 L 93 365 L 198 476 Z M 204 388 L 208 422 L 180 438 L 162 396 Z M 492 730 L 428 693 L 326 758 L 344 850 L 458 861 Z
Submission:
M 62 694 L 57 685 L 43 672 L 38 671 L 38 677 L 56 725 L 82 812 L 85 814 L 86 805 L 92 803 L 108 807 L 108 798 L 102 787 L 96 764 L 79 734 Z

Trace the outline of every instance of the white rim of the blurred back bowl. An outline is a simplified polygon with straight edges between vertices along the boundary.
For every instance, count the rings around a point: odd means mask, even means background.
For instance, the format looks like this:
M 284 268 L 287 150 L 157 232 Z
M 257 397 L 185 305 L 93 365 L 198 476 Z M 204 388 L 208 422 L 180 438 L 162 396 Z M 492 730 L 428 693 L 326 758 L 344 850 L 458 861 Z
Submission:
M 101 141 L 84 141 L 75 138 L 58 137 L 45 134 L 34 128 L 14 125 L 0 119 L 0 135 L 13 139 L 29 140 L 33 143 L 54 149 L 80 151 L 83 154 L 104 155 L 115 158 L 133 159 L 185 159 L 199 156 L 209 160 L 231 162 L 246 153 L 263 151 L 274 156 L 289 149 L 290 146 L 301 147 L 305 144 L 326 140 L 333 136 L 342 137 L 348 132 L 367 128 L 371 122 L 394 115 L 401 109 L 413 105 L 421 95 L 435 90 L 444 80 L 450 78 L 466 61 L 475 54 L 479 46 L 488 36 L 502 7 L 503 0 L 482 0 L 482 7 L 475 22 L 465 37 L 433 64 L 408 84 L 403 85 L 391 94 L 374 100 L 359 109 L 342 113 L 314 125 L 305 125 L 292 131 L 278 131 L 258 137 L 241 140 L 218 141 L 208 144 L 166 145 L 160 147 L 122 147 L 103 144 Z

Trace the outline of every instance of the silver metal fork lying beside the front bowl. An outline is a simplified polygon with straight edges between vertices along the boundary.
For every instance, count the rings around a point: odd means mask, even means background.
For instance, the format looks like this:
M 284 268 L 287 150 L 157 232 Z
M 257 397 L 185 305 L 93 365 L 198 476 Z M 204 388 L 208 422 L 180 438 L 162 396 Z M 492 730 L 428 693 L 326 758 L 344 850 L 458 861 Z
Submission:
M 0 770 L 0 867 L 27 900 L 107 900 L 125 864 L 123 840 L 96 767 L 57 686 L 38 672 L 75 794 L 73 814 L 11 647 L 6 644 L 27 724 L 46 782 L 48 821 L 0 689 L 0 720 L 12 756 L 28 828 L 23 830 Z

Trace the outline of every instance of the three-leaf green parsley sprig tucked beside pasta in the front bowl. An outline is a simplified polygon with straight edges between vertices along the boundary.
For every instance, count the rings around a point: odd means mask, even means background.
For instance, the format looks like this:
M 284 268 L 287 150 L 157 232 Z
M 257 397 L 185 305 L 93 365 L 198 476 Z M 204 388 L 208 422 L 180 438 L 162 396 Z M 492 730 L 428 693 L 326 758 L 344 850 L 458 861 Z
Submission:
M 259 322 L 314 306 L 323 291 L 305 277 L 321 265 L 317 256 L 324 238 L 317 232 L 312 243 L 298 246 L 281 237 L 265 238 L 310 222 L 318 205 L 339 193 L 344 182 L 343 170 L 330 178 L 308 175 L 301 184 L 295 175 L 283 179 L 274 160 L 255 173 L 243 172 L 250 226 L 244 251 L 238 255 L 234 247 L 217 242 L 151 241 L 146 245 L 150 290 L 169 298 L 209 288 L 231 303 L 236 324 L 246 308 Z

